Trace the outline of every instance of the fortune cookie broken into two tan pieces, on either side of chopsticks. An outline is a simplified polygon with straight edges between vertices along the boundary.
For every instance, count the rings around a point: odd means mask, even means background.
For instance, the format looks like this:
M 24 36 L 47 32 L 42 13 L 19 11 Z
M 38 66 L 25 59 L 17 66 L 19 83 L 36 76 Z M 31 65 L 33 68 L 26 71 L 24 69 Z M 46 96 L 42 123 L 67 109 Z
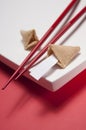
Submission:
M 34 29 L 30 31 L 21 31 L 21 35 L 25 50 L 33 48 L 39 41 Z M 48 56 L 53 54 L 58 60 L 57 64 L 61 68 L 65 68 L 75 58 L 79 51 L 79 46 L 73 47 L 52 44 L 49 46 L 47 54 Z

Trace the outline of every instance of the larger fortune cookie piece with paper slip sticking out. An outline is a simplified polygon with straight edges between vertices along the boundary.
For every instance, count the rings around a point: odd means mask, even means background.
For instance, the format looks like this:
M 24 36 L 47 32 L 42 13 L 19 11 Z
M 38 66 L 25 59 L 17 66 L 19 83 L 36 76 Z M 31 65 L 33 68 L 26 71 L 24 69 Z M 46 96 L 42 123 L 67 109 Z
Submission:
M 73 58 L 80 51 L 79 46 L 63 46 L 63 45 L 50 45 L 48 48 L 48 56 L 54 54 L 57 58 L 57 64 L 61 68 L 65 68 Z

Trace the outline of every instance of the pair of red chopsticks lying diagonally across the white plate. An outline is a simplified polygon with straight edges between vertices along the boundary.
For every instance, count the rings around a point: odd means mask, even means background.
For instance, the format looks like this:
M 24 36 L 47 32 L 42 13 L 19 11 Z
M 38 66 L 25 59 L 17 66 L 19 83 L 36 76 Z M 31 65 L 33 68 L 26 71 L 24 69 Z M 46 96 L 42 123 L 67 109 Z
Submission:
M 62 12 L 62 14 L 57 18 L 57 20 L 52 24 L 52 26 L 48 29 L 48 31 L 44 34 L 44 36 L 41 38 L 41 40 L 38 42 L 38 44 L 33 48 L 33 50 L 30 52 L 30 54 L 24 59 L 24 61 L 21 63 L 21 65 L 18 67 L 18 69 L 14 72 L 14 74 L 10 77 L 10 79 L 6 82 L 6 84 L 3 86 L 2 90 L 4 90 L 9 83 L 13 79 L 18 79 L 23 73 L 25 73 L 32 65 L 47 51 L 48 46 L 50 44 L 54 44 L 85 12 L 86 7 L 84 7 L 72 20 L 70 20 L 60 31 L 57 33 L 50 41 L 47 43 L 47 45 L 33 58 L 33 60 L 27 65 L 27 67 L 24 69 L 23 67 L 27 63 L 28 60 L 35 54 L 37 49 L 43 44 L 43 42 L 49 37 L 49 35 L 53 32 L 53 30 L 57 27 L 57 25 L 62 21 L 62 19 L 67 15 L 67 13 L 70 11 L 70 9 L 76 4 L 77 0 L 72 0 L 69 5 L 66 7 L 66 9 Z

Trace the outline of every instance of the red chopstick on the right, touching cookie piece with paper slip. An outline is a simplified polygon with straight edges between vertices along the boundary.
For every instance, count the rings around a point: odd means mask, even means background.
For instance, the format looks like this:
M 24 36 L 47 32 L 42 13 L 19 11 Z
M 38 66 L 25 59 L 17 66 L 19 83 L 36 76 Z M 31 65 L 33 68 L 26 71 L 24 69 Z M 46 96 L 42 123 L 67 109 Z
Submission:
M 21 73 L 16 77 L 18 79 L 23 73 L 25 73 L 32 65 L 47 51 L 50 44 L 54 44 L 84 13 L 86 13 L 86 7 L 84 7 L 72 20 L 70 20 L 59 33 L 57 33 L 51 41 L 36 55 L 36 57 L 29 63 L 29 65 L 21 71 Z

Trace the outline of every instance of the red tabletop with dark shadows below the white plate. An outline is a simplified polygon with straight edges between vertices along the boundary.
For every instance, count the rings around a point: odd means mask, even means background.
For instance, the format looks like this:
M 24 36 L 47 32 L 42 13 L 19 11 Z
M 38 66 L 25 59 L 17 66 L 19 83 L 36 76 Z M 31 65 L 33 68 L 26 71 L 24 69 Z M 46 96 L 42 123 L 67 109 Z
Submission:
M 0 63 L 0 88 L 12 73 Z M 56 92 L 12 81 L 0 90 L 0 130 L 86 130 L 86 70 Z

